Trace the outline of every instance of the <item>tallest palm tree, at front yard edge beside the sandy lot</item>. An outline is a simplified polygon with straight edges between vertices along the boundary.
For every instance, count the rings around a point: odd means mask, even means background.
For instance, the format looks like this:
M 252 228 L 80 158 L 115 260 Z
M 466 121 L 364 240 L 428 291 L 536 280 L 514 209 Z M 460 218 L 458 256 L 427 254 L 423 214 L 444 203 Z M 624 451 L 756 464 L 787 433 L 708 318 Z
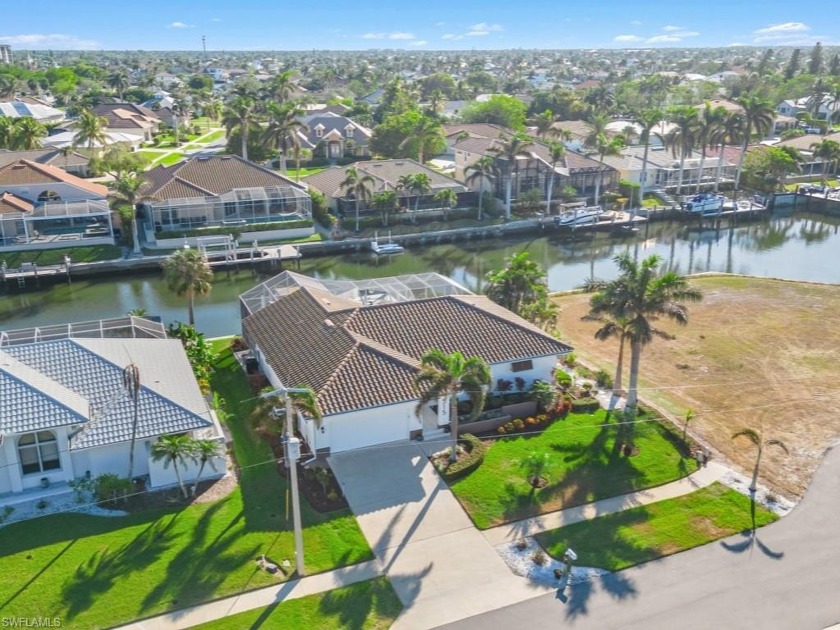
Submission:
M 653 323 L 667 317 L 678 324 L 687 324 L 688 309 L 683 302 L 697 302 L 703 295 L 686 278 L 672 271 L 660 274 L 662 257 L 659 255 L 638 262 L 625 252 L 613 260 L 619 276 L 592 296 L 589 313 L 594 318 L 606 316 L 629 326 L 626 338 L 630 341 L 630 383 L 626 407 L 632 414 L 638 402 L 642 349 L 655 336 L 670 337 Z

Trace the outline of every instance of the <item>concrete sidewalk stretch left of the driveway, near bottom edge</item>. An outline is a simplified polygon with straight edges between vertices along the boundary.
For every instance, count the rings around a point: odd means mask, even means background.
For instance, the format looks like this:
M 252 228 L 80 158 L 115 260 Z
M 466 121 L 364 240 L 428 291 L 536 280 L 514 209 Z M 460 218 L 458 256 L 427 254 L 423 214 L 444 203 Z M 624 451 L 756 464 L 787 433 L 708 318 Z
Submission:
M 310 575 L 300 580 L 290 580 L 267 586 L 247 593 L 225 597 L 206 604 L 199 604 L 192 608 L 176 610 L 165 615 L 150 617 L 142 621 L 135 621 L 124 626 L 125 630 L 179 630 L 191 628 L 215 619 L 223 619 L 230 615 L 265 608 L 277 602 L 298 599 L 306 595 L 331 591 L 341 586 L 364 582 L 382 575 L 382 565 L 377 560 L 370 560 L 361 564 L 343 567 L 327 573 Z

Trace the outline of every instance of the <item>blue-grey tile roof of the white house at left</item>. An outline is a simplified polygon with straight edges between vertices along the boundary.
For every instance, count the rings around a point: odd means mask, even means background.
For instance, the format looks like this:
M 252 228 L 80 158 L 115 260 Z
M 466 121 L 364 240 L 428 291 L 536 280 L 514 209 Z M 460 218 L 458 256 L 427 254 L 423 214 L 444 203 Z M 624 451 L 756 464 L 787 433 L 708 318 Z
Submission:
M 0 373 L 7 380 L 9 375 L 20 380 L 20 374 L 28 373 L 29 402 L 37 396 L 46 398 L 39 404 L 51 412 L 41 417 L 18 408 L 15 414 L 3 413 L 0 422 L 9 426 L 28 422 L 29 430 L 38 430 L 70 417 L 67 412 L 62 415 L 61 406 L 73 409 L 72 423 L 82 424 L 82 428 L 71 436 L 71 449 L 130 439 L 134 405 L 123 389 L 123 368 L 112 361 L 120 355 L 124 363 L 132 360 L 140 369 L 138 439 L 213 425 L 176 340 L 63 339 L 10 346 L 2 354 L 17 363 L 0 365 Z M 135 360 L 133 355 L 141 359 Z

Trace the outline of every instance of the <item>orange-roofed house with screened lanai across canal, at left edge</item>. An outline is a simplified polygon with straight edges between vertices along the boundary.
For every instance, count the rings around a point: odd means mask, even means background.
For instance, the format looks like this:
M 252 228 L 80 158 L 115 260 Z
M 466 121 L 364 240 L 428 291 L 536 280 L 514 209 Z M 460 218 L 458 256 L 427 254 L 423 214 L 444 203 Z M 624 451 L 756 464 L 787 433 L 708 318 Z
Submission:
M 105 186 L 49 164 L 17 160 L 0 166 L 0 247 L 113 244 L 107 196 Z

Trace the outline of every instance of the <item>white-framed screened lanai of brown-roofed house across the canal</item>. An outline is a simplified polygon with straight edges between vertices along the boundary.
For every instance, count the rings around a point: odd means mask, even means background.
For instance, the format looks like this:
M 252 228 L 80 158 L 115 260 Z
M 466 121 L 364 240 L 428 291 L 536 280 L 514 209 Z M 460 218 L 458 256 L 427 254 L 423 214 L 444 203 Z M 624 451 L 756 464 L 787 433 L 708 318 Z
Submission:
M 210 197 L 183 197 L 147 202 L 155 231 L 248 226 L 308 219 L 309 195 L 293 186 L 235 188 Z

